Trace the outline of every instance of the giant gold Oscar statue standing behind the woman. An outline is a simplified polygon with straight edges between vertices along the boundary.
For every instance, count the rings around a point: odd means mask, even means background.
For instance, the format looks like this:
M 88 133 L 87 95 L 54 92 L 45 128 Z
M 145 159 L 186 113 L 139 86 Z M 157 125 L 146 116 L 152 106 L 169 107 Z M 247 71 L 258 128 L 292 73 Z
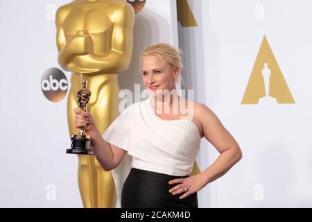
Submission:
M 100 133 L 118 116 L 117 74 L 128 69 L 132 56 L 135 10 L 123 0 L 76 0 L 58 8 L 58 62 L 71 71 L 67 101 L 69 135 L 83 80 L 92 92 L 88 111 Z M 92 138 L 91 138 L 92 139 Z M 94 155 L 78 155 L 78 184 L 84 207 L 114 207 L 116 191 L 110 171 L 104 171 Z

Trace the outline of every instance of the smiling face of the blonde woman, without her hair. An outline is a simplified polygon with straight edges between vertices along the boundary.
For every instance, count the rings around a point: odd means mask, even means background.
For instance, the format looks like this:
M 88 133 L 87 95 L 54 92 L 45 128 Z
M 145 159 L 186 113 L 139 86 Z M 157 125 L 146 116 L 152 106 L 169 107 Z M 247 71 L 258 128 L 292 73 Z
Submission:
M 146 56 L 144 58 L 142 62 L 142 76 L 146 89 L 150 89 L 152 92 L 175 89 L 175 80 L 180 69 L 173 69 L 166 60 L 164 62 L 158 56 Z

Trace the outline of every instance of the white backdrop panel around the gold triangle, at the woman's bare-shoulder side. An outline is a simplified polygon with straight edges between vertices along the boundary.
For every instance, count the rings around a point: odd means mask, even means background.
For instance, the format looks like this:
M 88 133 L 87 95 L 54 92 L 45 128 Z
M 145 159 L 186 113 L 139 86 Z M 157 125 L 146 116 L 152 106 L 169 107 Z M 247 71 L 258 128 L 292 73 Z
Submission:
M 195 89 L 243 151 L 239 164 L 201 191 L 202 207 L 312 207 L 312 1 L 188 2 L 198 27 L 179 26 L 182 87 Z M 241 104 L 263 35 L 295 104 Z M 200 168 L 217 155 L 202 141 Z

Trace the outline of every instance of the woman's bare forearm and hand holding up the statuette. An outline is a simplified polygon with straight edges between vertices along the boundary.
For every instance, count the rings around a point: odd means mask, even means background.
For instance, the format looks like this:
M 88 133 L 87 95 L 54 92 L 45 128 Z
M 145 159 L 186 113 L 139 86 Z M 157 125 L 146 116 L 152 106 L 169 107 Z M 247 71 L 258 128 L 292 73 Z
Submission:
M 110 171 L 118 166 L 118 164 L 123 160 L 125 153 L 127 151 L 105 142 L 101 133 L 98 131 L 92 114 L 89 112 L 83 112 L 76 108 L 74 110 L 75 115 L 75 127 L 80 128 L 85 126 L 85 132 L 91 137 L 91 146 L 94 151 L 94 155 L 101 167 L 105 171 Z

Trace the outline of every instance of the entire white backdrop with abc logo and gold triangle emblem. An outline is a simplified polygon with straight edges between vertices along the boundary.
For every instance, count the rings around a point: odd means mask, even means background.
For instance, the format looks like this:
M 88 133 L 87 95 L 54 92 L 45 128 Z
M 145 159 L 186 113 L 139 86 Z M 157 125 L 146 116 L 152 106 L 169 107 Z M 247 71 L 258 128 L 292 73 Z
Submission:
M 58 64 L 55 12 L 66 0 L 0 1 L 0 207 L 83 207 L 67 126 L 71 73 Z M 184 51 L 179 89 L 211 108 L 243 159 L 198 194 L 199 207 L 312 207 L 312 2 L 146 0 L 135 15 L 130 67 L 166 42 Z M 214 147 L 202 139 L 198 165 Z

